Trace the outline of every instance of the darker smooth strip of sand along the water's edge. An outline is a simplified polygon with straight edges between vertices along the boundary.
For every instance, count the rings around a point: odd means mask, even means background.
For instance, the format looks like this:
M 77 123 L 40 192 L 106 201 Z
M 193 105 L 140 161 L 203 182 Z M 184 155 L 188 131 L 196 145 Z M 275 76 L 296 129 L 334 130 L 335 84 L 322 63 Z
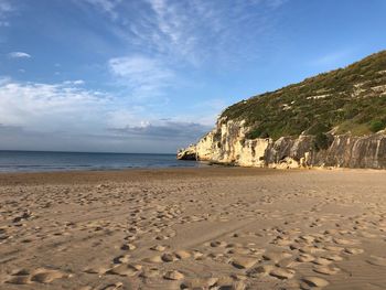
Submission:
M 276 169 L 253 167 L 221 167 L 208 165 L 202 168 L 148 168 L 122 170 L 73 170 L 43 172 L 0 172 L 0 186 L 15 184 L 66 184 L 66 183 L 97 183 L 127 182 L 173 179 L 205 179 L 224 176 L 262 176 L 279 174 L 301 174 L 304 172 L 367 172 L 386 174 L 386 170 L 351 169 L 351 168 L 307 168 L 307 169 Z

